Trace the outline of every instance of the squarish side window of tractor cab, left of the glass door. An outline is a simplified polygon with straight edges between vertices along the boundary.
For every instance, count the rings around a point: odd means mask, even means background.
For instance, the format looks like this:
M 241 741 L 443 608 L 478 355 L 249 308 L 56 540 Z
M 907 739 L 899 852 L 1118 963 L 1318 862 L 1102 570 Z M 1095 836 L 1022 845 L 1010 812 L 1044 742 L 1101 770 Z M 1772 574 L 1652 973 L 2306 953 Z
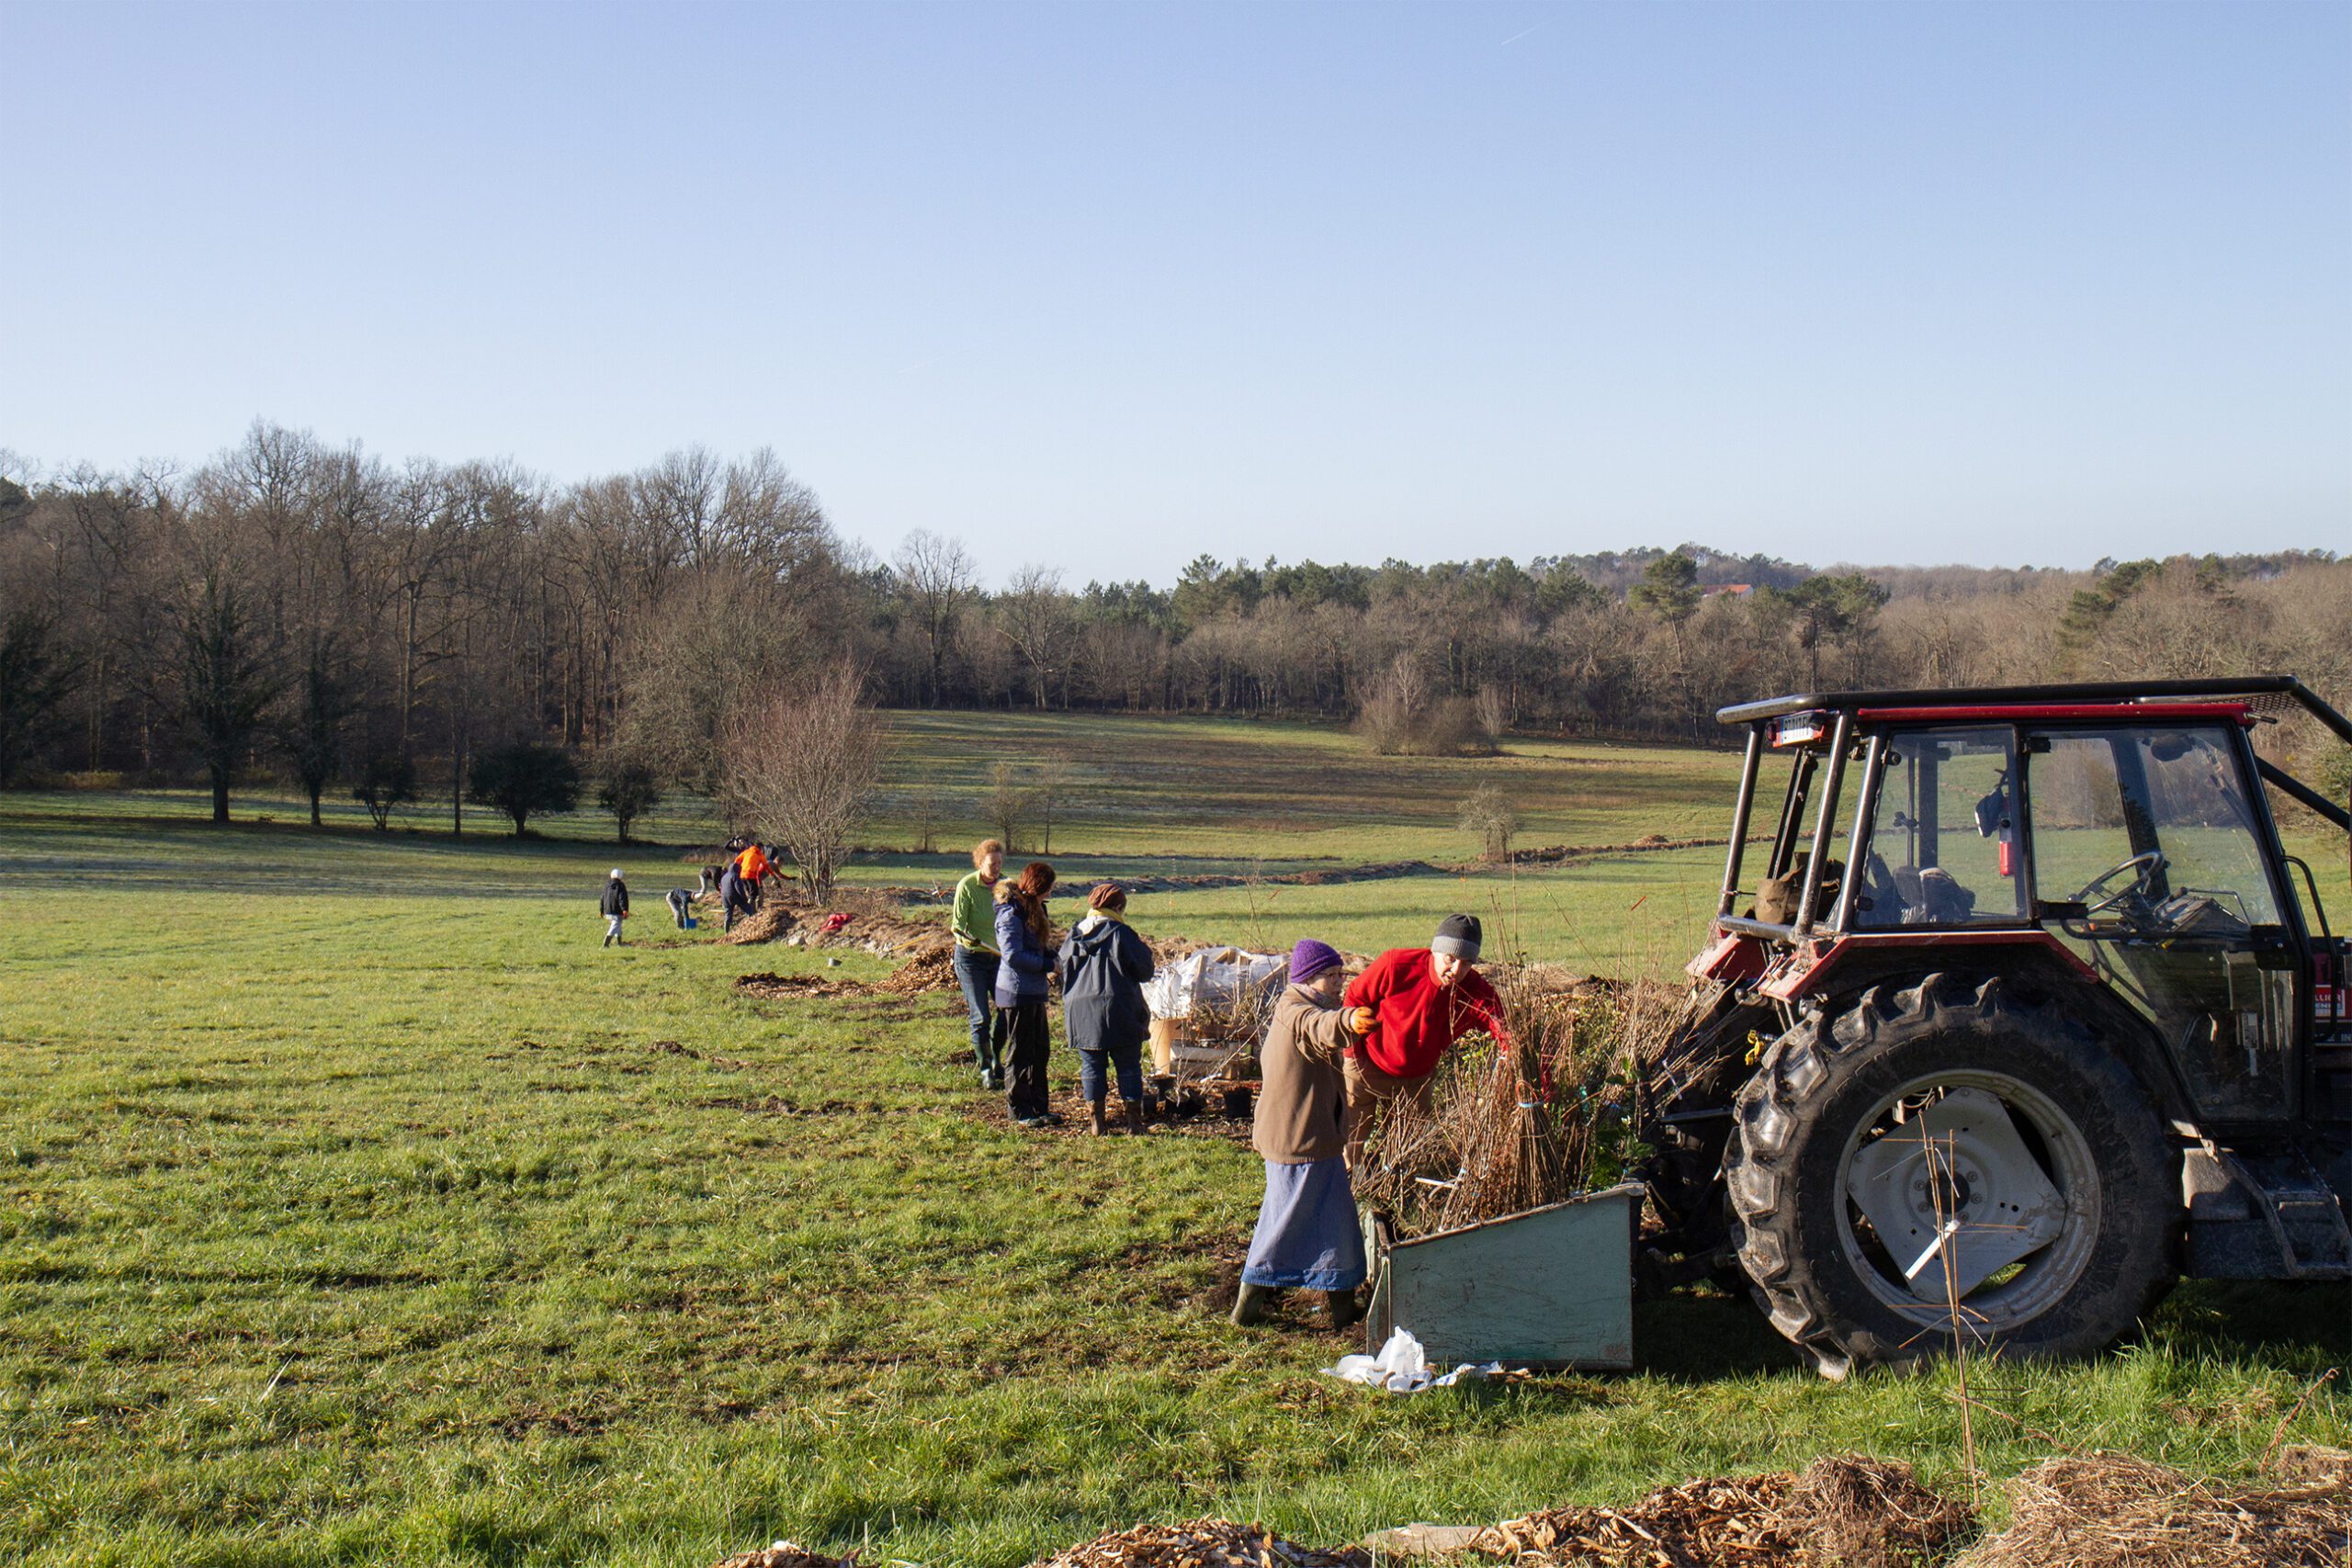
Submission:
M 2006 726 L 1891 736 L 1851 924 L 2018 922 L 2025 900 L 2013 778 Z

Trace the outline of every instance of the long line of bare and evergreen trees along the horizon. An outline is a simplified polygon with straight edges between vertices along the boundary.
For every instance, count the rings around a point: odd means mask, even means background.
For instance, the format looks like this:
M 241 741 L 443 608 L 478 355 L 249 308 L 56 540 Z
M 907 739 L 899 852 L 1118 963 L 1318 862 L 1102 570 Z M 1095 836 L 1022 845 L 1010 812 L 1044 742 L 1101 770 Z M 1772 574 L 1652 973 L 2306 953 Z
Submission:
M 275 773 L 313 813 L 437 799 L 456 827 L 593 788 L 626 832 L 663 790 L 720 795 L 743 715 L 840 668 L 882 705 L 1298 715 L 1439 752 L 1712 741 L 1717 705 L 1806 686 L 2293 670 L 2352 696 L 2352 562 L 2326 550 L 1202 557 L 1073 588 L 931 531 L 880 557 L 764 449 L 553 484 L 259 423 L 193 473 L 0 473 L 0 783 L 200 780 L 219 818 Z

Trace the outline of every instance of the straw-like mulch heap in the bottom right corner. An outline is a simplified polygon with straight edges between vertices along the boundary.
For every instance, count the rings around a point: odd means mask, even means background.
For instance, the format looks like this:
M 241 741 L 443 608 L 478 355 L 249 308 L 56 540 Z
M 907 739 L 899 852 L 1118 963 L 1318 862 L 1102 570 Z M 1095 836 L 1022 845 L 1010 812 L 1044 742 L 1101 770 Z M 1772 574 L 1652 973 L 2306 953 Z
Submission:
M 2251 1488 L 2117 1453 L 2044 1460 L 2009 1481 L 2009 1528 L 1955 1568 L 2343 1568 L 2352 1455 L 2300 1448 Z

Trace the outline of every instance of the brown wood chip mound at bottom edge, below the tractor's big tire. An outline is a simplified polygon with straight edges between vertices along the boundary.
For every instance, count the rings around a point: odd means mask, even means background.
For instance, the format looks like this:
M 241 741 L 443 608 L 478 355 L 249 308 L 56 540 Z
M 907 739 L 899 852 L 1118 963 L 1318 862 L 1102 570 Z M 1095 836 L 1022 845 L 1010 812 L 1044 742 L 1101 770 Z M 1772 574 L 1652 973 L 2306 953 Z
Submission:
M 1705 1479 L 1623 1509 L 1566 1507 L 1479 1530 L 1472 1552 L 1526 1568 L 1882 1568 L 1933 1561 L 1973 1528 L 1910 1465 L 1830 1455 L 1802 1476 Z

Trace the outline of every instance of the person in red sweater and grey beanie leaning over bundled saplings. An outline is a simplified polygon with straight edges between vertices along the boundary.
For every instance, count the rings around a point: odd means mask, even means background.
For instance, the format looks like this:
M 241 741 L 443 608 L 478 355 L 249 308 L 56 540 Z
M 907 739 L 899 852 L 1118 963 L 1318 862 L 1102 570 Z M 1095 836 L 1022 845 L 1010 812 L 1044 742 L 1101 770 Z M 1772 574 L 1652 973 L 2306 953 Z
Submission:
M 1348 1166 L 1395 1100 L 1430 1107 L 1430 1074 L 1463 1034 L 1484 1030 L 1510 1051 L 1503 999 L 1477 964 L 1477 914 L 1446 914 L 1428 947 L 1390 947 L 1348 983 Z

